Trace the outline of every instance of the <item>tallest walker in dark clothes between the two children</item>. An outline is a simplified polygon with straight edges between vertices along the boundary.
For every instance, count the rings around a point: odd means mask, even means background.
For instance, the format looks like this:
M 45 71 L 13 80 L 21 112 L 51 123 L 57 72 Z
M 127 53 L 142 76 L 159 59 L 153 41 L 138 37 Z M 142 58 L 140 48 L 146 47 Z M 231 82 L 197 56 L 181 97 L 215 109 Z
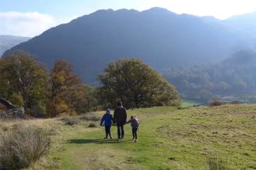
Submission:
M 117 103 L 117 108 L 113 112 L 113 121 L 117 123 L 117 136 L 118 140 L 124 138 L 124 125 L 126 124 L 127 114 L 121 102 Z

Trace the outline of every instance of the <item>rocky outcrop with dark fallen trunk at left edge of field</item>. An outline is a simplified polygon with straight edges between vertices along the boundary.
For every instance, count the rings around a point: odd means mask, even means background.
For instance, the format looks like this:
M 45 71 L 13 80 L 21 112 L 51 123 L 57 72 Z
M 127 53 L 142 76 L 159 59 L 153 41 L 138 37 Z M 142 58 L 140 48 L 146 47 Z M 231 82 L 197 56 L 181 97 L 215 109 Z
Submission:
M 6 99 L 0 98 L 0 103 L 6 106 L 6 110 L 0 110 L 0 118 L 25 118 L 24 108 L 16 107 Z

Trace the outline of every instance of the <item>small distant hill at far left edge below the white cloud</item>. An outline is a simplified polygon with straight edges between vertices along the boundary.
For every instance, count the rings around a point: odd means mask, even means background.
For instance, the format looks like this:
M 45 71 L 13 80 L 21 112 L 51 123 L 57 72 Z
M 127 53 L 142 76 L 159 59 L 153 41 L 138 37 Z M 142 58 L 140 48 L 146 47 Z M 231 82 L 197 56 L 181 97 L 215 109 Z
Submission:
M 28 37 L 0 35 L 0 57 L 7 49 L 11 49 L 13 46 L 20 44 L 20 42 L 26 42 L 28 39 Z

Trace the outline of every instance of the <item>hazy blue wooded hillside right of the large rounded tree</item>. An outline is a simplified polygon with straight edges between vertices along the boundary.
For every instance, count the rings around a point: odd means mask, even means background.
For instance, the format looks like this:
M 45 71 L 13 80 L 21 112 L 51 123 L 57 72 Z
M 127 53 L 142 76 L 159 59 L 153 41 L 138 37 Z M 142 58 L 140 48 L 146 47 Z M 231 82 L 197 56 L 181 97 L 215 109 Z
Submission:
M 183 99 L 209 103 L 256 103 L 256 52 L 239 51 L 217 64 L 173 68 L 165 72 Z

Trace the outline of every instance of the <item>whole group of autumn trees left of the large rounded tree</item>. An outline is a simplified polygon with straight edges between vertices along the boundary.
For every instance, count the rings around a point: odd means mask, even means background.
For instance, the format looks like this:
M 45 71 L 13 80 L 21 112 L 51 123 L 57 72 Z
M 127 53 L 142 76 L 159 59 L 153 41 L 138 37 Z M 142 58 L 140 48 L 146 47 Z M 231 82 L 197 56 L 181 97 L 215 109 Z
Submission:
M 56 60 L 47 71 L 35 56 L 13 52 L 0 59 L 0 80 L 0 98 L 24 107 L 31 116 L 84 114 L 98 108 L 96 89 L 84 85 L 65 60 Z

